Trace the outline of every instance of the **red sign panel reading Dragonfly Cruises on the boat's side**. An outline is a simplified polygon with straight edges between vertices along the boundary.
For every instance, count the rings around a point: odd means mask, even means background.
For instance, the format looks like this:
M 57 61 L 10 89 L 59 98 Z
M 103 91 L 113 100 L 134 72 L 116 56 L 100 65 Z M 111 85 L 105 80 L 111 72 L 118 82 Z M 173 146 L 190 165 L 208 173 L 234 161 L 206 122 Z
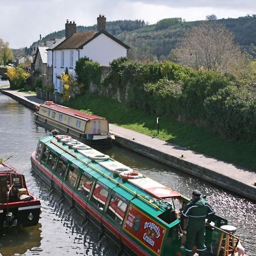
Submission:
M 123 229 L 150 251 L 160 255 L 166 228 L 143 213 L 135 205 L 130 205 Z

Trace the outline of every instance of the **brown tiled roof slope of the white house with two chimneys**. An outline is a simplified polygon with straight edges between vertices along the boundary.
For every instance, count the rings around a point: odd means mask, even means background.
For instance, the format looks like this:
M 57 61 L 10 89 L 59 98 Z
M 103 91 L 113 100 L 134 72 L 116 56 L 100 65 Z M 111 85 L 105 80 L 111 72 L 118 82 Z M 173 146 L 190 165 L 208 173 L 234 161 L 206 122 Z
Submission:
M 84 33 L 75 33 L 59 44 L 55 49 L 77 49 L 82 44 L 91 39 L 97 31 L 88 31 Z

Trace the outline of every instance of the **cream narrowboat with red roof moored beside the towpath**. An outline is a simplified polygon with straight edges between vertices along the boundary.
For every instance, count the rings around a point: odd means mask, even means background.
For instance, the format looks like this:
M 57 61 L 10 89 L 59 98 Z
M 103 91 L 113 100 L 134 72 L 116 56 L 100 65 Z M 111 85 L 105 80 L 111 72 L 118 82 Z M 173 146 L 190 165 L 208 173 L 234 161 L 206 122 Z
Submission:
M 48 129 L 59 130 L 93 147 L 111 147 L 114 135 L 104 117 L 46 101 L 36 108 L 35 121 Z

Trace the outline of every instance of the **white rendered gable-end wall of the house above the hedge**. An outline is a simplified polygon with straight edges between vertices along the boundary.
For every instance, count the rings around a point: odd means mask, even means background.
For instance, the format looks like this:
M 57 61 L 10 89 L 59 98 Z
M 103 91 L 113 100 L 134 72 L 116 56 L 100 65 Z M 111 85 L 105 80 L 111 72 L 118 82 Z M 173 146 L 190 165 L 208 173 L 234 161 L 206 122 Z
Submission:
M 101 34 L 93 39 L 80 50 L 80 57 L 89 57 L 102 66 L 109 66 L 109 63 L 119 57 L 127 56 L 127 49 L 118 44 L 108 36 Z

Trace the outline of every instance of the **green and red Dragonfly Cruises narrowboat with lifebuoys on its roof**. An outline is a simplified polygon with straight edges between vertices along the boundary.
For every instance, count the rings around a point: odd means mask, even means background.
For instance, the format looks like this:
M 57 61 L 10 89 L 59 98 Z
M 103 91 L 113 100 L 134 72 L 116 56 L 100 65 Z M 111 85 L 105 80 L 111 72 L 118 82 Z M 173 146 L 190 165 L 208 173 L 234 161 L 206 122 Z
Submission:
M 49 189 L 79 209 L 84 223 L 92 221 L 126 253 L 185 256 L 186 220 L 179 216 L 187 197 L 68 135 L 40 138 L 31 165 Z M 234 229 L 214 216 L 205 234 L 211 255 L 236 250 Z

